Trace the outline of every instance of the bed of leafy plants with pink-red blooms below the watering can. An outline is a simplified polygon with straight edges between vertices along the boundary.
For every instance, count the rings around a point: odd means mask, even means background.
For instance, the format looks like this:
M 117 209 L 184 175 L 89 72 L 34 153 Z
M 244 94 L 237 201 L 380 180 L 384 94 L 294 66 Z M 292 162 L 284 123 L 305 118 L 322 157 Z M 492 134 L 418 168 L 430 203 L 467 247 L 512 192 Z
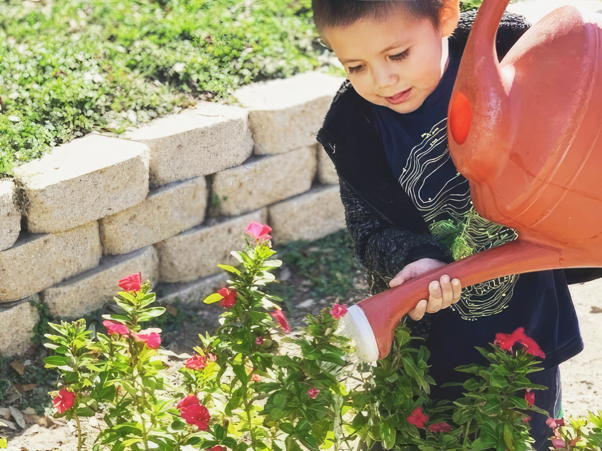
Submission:
M 230 278 L 204 302 L 223 309 L 220 325 L 199 335 L 194 355 L 166 351 L 160 329 L 142 329 L 165 308 L 153 305 L 139 273 L 119 281 L 119 311 L 103 317 L 107 333 L 87 330 L 83 320 L 51 324 L 57 334 L 46 336 L 46 346 L 55 355 L 45 362 L 61 372 L 53 403 L 57 416 L 78 426 L 79 449 L 81 417 L 97 416 L 95 450 L 351 450 L 358 441 L 368 449 L 376 442 L 425 451 L 529 449 L 530 411 L 545 413 L 533 397 L 545 387 L 527 375 L 545 355 L 524 330 L 497 334 L 492 351 L 477 348 L 489 366 L 458 368 L 471 375 L 459 384 L 463 397 L 431 400 L 429 351 L 403 325 L 375 365 L 356 361 L 350 340 L 337 333 L 345 304 L 291 328 L 282 300 L 263 290 L 281 265 L 270 232 L 249 224 L 246 247 L 232 253 L 238 265 L 219 265 Z M 573 449 L 585 437 L 595 443 L 598 420 L 590 420 L 589 435 L 581 423 L 571 432 L 551 420 L 563 443 L 555 446 Z

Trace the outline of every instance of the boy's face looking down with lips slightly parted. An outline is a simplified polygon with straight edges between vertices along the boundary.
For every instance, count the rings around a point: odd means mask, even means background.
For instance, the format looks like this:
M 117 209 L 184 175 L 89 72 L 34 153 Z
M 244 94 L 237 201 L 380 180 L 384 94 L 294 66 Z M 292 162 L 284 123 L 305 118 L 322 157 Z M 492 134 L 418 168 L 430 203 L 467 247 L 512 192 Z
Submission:
M 439 30 L 429 19 L 400 10 L 383 22 L 362 20 L 323 34 L 360 96 L 408 113 L 422 105 L 441 79 L 442 38 L 449 28 Z

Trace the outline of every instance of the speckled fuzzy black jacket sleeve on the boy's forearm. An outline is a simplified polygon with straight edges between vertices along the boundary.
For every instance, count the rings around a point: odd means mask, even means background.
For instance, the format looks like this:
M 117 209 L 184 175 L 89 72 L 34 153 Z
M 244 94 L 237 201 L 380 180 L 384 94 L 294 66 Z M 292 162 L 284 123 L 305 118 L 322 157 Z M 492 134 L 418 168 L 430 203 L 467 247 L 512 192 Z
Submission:
M 339 180 L 347 229 L 355 241 L 355 256 L 373 276 L 388 281 L 408 263 L 423 258 L 452 261 L 430 233 L 410 232 L 391 224 L 343 178 Z

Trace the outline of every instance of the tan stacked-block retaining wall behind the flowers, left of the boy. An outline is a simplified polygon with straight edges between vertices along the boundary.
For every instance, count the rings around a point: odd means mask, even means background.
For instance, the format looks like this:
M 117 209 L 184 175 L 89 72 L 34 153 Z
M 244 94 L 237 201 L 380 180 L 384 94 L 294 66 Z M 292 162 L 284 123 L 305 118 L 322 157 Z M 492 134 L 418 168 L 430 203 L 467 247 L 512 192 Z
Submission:
M 0 354 L 39 320 L 78 318 L 142 272 L 164 302 L 223 283 L 249 221 L 275 245 L 344 227 L 337 174 L 315 141 L 343 82 L 324 73 L 242 87 L 119 138 L 93 132 L 0 181 Z

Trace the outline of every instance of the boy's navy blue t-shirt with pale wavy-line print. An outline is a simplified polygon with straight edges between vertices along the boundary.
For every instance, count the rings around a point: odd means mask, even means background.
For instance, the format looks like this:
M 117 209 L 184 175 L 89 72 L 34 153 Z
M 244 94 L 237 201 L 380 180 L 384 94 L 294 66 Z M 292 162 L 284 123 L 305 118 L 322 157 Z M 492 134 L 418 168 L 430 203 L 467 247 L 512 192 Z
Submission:
M 433 230 L 442 221 L 462 224 L 462 237 L 473 251 L 516 238 L 512 229 L 474 213 L 470 186 L 456 170 L 447 145 L 447 107 L 458 74 L 459 58 L 448 67 L 432 94 L 416 111 L 401 114 L 371 105 L 374 127 L 382 138 L 394 176 Z M 556 366 L 583 349 L 579 323 L 563 271 L 508 275 L 462 289 L 457 304 L 436 313 L 426 345 L 430 374 L 438 384 L 462 381 L 454 367 L 483 363 L 474 346 L 488 347 L 498 332 L 524 327 L 545 352 L 543 365 Z M 454 387 L 435 387 L 436 397 L 449 397 Z M 458 393 L 459 394 L 459 393 Z M 440 396 L 437 396 L 440 395 Z

